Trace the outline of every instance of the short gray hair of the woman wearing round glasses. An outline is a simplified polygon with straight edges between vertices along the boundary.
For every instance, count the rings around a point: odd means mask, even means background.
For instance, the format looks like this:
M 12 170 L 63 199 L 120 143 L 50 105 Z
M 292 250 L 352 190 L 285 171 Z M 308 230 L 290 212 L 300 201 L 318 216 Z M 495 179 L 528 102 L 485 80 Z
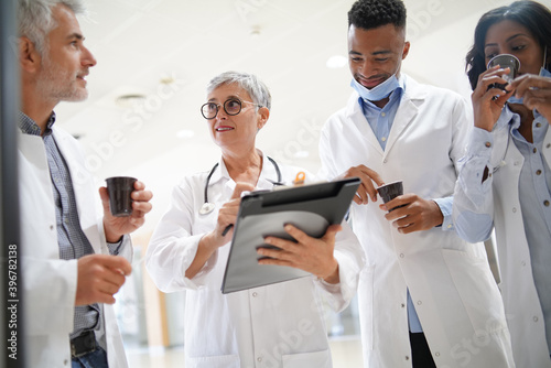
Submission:
M 225 72 L 218 74 L 208 83 L 207 95 L 223 85 L 230 84 L 237 84 L 245 89 L 252 98 L 252 102 L 270 109 L 272 98 L 270 90 L 268 90 L 268 87 L 262 80 L 249 73 Z

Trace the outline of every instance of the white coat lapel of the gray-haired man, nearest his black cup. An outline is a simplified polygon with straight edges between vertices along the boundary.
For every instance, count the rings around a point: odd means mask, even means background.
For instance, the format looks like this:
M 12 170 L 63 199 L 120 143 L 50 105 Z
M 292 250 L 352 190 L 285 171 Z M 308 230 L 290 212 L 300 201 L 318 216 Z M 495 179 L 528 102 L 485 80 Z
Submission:
M 98 216 L 96 212 L 97 190 L 94 188 L 94 178 L 84 166 L 84 154 L 78 147 L 78 143 L 67 133 L 62 133 L 54 128 L 54 139 L 57 148 L 67 163 L 73 182 L 73 192 L 75 194 L 76 208 L 80 227 L 91 243 L 96 253 L 102 253 L 106 249 L 105 238 L 100 237 L 98 229 Z M 91 210 L 90 210 L 91 209 Z

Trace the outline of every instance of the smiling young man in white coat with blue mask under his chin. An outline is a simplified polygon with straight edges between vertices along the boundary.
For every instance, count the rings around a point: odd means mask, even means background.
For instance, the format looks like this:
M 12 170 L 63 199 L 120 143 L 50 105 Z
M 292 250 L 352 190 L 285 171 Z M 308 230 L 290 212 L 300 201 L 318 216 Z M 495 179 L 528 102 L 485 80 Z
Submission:
M 365 365 L 509 367 L 485 249 L 463 241 L 451 218 L 467 105 L 401 73 L 410 50 L 402 1 L 359 0 L 348 21 L 354 91 L 322 130 L 320 155 L 322 176 L 363 181 L 350 214 L 367 256 L 358 288 Z M 398 180 L 406 194 L 379 205 L 376 186 Z

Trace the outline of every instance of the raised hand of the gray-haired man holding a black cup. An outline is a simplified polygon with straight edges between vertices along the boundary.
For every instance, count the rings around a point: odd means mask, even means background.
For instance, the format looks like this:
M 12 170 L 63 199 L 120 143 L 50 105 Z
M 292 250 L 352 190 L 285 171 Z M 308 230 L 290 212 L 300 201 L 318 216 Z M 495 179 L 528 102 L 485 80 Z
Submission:
M 138 229 L 145 223 L 145 214 L 152 208 L 151 198 L 153 194 L 145 191 L 145 185 L 137 181 L 134 183 L 134 191 L 131 194 L 132 215 L 128 217 L 115 217 L 111 215 L 109 207 L 109 193 L 107 187 L 99 188 L 99 196 L 104 205 L 104 231 L 108 242 L 117 242 L 125 234 L 129 234 Z

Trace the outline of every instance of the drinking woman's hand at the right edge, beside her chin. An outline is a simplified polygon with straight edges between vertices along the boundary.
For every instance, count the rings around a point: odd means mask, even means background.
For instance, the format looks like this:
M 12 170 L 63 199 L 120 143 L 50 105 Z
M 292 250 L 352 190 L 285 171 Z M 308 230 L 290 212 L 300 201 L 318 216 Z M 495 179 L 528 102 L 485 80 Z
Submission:
M 538 110 L 551 123 L 551 78 L 525 74 L 511 82 L 511 88 L 526 107 Z

